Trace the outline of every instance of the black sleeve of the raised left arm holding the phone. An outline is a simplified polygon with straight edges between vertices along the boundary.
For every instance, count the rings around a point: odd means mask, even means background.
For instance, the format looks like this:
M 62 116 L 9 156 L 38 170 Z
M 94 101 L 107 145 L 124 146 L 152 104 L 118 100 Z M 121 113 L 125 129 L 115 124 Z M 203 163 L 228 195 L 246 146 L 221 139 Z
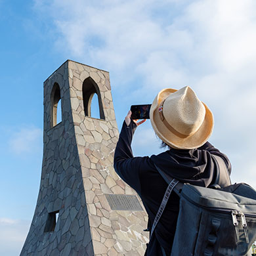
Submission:
M 119 177 L 140 194 L 140 171 L 144 163 L 148 161 L 148 157 L 133 157 L 131 141 L 136 128 L 137 125 L 133 120 L 129 126 L 125 121 L 123 122 L 114 155 L 114 168 Z

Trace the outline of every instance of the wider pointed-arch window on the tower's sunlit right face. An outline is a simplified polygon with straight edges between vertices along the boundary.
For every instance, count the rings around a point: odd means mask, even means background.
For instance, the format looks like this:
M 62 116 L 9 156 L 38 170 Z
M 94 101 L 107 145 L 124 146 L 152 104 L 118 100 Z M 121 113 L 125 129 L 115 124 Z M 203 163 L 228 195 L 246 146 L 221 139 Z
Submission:
M 100 90 L 91 77 L 83 81 L 83 108 L 85 116 L 105 119 Z

